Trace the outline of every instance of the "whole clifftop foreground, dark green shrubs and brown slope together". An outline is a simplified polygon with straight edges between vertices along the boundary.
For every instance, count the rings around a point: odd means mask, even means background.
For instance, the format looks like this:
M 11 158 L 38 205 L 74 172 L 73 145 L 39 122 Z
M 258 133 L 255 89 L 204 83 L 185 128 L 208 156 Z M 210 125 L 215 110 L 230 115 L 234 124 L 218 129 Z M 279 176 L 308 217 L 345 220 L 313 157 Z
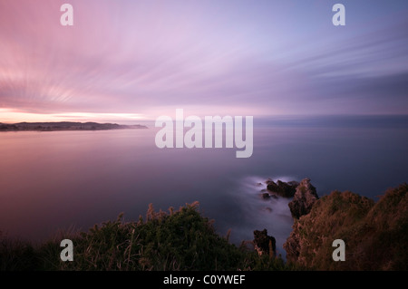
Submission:
M 258 255 L 251 242 L 230 244 L 199 203 L 168 212 L 149 206 L 146 217 L 95 225 L 87 232 L 56 232 L 32 245 L 0 232 L 0 270 L 17 271 L 287 271 L 408 270 L 408 185 L 390 188 L 374 203 L 351 192 L 334 191 L 295 220 L 279 256 Z M 60 258 L 63 239 L 73 241 L 73 262 Z M 345 262 L 332 259 L 335 239 L 345 241 Z

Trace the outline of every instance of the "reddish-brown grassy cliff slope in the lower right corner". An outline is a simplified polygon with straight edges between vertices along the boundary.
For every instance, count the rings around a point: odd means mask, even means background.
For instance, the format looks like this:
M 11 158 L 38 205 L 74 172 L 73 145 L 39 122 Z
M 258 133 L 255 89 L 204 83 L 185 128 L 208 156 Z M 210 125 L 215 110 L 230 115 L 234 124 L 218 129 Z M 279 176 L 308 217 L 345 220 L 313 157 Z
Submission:
M 345 241 L 345 261 L 332 258 Z M 408 185 L 389 189 L 377 203 L 345 191 L 315 201 L 295 219 L 284 248 L 287 261 L 318 270 L 407 270 Z

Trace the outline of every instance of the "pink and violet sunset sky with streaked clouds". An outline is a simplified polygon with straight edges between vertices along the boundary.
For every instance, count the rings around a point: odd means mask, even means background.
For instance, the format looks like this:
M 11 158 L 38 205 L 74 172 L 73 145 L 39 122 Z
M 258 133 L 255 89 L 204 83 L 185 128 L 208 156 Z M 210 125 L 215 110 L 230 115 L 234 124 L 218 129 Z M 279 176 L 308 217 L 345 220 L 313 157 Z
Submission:
M 0 122 L 407 114 L 407 15 L 406 0 L 2 0 Z

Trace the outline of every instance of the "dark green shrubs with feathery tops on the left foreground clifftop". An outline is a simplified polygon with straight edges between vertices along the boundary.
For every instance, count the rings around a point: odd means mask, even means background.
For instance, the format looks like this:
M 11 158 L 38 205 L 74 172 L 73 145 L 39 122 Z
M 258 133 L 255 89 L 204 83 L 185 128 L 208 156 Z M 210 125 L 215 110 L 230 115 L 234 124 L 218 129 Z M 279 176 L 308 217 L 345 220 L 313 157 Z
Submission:
M 60 259 L 64 238 L 73 240 L 74 260 Z M 169 213 L 150 206 L 145 220 L 117 220 L 88 232 L 60 232 L 42 244 L 10 241 L 0 245 L 0 270 L 288 270 L 280 257 L 258 256 L 216 234 L 198 203 Z

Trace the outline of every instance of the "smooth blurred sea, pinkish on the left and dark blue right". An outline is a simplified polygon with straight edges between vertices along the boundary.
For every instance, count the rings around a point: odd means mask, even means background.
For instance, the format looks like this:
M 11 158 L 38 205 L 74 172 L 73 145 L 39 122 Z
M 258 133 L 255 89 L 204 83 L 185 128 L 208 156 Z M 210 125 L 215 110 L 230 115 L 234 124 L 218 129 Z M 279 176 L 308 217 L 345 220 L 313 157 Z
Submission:
M 289 200 L 263 201 L 257 182 L 311 178 L 319 196 L 334 189 L 367 197 L 408 181 L 403 120 L 256 122 L 254 153 L 157 149 L 156 129 L 3 132 L 0 230 L 41 240 L 58 228 L 145 216 L 198 200 L 219 234 L 235 243 L 267 228 L 278 250 L 291 231 Z M 283 250 L 280 249 L 280 253 Z

